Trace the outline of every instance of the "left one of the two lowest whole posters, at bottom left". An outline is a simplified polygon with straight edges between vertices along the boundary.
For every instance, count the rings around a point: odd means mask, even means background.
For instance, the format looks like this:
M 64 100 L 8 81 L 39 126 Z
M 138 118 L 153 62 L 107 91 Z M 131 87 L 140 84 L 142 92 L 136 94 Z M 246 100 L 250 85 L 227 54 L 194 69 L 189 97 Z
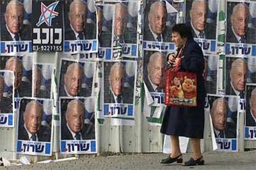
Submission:
M 52 101 L 22 98 L 18 113 L 17 153 L 51 156 Z

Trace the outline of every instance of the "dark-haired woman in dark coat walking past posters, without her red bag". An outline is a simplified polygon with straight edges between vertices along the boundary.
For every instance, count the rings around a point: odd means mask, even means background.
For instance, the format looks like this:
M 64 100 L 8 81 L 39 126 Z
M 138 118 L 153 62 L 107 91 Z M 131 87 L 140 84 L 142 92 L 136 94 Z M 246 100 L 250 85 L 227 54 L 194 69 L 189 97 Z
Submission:
M 205 83 L 203 79 L 204 59 L 200 46 L 192 38 L 190 27 L 184 23 L 174 25 L 172 41 L 178 47 L 177 55 L 169 55 L 171 69 L 197 74 L 197 106 L 168 106 L 163 118 L 161 133 L 170 135 L 173 152 L 161 163 L 182 163 L 179 148 L 179 136 L 192 140 L 193 155 L 184 166 L 204 164 L 200 150 L 200 138 L 203 138 Z

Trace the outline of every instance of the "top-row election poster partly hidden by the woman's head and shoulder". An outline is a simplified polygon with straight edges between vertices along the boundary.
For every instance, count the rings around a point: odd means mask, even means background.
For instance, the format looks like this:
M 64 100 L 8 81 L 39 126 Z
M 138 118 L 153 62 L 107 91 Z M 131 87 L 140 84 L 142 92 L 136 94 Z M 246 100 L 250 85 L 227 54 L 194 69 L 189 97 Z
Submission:
M 186 1 L 186 24 L 205 55 L 216 53 L 216 26 L 219 1 Z

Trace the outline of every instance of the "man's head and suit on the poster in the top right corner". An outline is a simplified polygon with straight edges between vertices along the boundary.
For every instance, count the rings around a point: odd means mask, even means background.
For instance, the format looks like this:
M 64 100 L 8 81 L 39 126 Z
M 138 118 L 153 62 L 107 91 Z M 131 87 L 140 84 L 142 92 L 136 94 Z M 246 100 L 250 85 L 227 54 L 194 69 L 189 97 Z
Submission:
M 228 43 L 256 43 L 256 30 L 248 27 L 249 17 L 250 11 L 247 4 L 238 3 L 233 7 L 226 36 Z

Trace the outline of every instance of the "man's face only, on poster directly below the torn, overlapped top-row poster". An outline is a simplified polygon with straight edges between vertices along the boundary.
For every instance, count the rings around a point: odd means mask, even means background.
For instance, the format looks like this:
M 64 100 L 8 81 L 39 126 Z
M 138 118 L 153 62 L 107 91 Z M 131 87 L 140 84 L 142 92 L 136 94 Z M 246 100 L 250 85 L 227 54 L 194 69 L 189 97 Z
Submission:
M 109 83 L 114 95 L 122 95 L 124 88 L 124 69 L 121 66 L 115 67 L 112 74 L 109 75 Z

